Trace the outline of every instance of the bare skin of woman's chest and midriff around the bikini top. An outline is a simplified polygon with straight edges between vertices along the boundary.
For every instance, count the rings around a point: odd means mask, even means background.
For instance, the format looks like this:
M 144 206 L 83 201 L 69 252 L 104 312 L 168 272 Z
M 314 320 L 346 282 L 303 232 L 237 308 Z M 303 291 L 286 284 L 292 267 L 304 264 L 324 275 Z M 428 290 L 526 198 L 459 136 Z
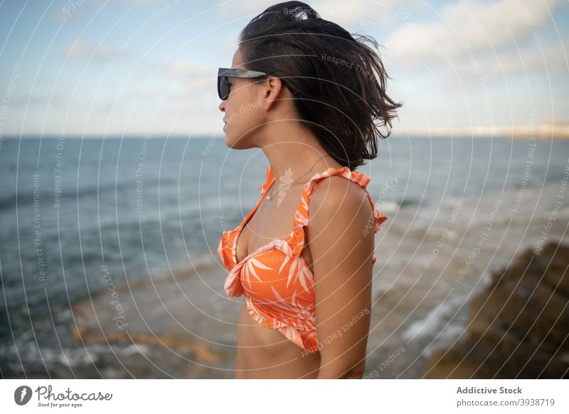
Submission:
M 277 190 L 278 187 L 274 187 L 267 194 Z M 285 197 L 279 200 L 283 192 L 286 192 Z M 301 196 L 302 183 L 298 183 L 284 187 L 271 201 L 262 200 L 239 234 L 238 263 L 261 246 L 274 239 L 284 239 L 291 233 Z M 308 246 L 302 250 L 302 257 L 314 274 Z M 319 364 L 319 352 L 308 353 L 277 329 L 258 324 L 243 303 L 237 329 L 235 378 L 316 378 Z

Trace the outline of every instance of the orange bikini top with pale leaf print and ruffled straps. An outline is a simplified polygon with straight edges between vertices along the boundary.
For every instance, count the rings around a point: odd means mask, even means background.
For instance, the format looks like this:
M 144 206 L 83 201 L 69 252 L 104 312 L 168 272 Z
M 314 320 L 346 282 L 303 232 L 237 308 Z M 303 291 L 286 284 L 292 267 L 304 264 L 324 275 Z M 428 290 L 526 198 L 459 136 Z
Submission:
M 261 325 L 278 329 L 287 339 L 308 352 L 319 350 L 316 332 L 316 295 L 314 276 L 302 256 L 304 227 L 308 223 L 308 207 L 314 187 L 324 178 L 341 175 L 366 189 L 373 209 L 373 231 L 387 217 L 376 209 L 367 190 L 370 179 L 347 167 L 329 168 L 316 173 L 304 184 L 302 197 L 294 214 L 292 232 L 285 239 L 275 239 L 248 254 L 237 263 L 237 241 L 245 224 L 255 214 L 263 197 L 275 181 L 269 165 L 265 184 L 260 185 L 261 198 L 236 229 L 223 231 L 218 254 L 229 274 L 225 279 L 228 298 L 243 295 L 249 315 Z M 373 256 L 373 263 L 376 256 Z

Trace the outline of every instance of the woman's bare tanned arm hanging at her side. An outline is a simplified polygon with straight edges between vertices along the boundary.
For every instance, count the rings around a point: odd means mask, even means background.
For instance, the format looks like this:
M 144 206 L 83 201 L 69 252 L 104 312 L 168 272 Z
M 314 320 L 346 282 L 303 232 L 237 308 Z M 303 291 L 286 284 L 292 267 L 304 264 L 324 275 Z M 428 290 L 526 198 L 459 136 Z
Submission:
M 326 181 L 330 185 L 312 195 L 307 230 L 316 281 L 317 378 L 361 378 L 371 317 L 373 215 L 363 187 L 341 177 Z

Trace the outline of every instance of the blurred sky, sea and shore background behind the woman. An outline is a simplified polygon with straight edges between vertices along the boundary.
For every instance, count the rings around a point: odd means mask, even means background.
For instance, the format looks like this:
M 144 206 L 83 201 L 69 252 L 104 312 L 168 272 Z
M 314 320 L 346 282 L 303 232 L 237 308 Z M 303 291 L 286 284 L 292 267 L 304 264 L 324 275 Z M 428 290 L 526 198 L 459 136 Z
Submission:
M 0 3 L 0 374 L 231 378 L 216 249 L 258 200 L 218 67 L 276 1 Z M 403 102 L 359 168 L 367 378 L 567 378 L 567 1 L 309 1 Z

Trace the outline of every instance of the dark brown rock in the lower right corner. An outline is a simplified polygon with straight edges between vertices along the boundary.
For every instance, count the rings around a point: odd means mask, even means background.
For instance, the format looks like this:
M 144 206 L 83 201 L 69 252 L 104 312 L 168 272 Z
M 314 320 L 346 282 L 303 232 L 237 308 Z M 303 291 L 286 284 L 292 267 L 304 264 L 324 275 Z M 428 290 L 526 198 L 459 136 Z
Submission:
M 469 303 L 462 339 L 423 378 L 569 378 L 569 246 L 520 254 Z

